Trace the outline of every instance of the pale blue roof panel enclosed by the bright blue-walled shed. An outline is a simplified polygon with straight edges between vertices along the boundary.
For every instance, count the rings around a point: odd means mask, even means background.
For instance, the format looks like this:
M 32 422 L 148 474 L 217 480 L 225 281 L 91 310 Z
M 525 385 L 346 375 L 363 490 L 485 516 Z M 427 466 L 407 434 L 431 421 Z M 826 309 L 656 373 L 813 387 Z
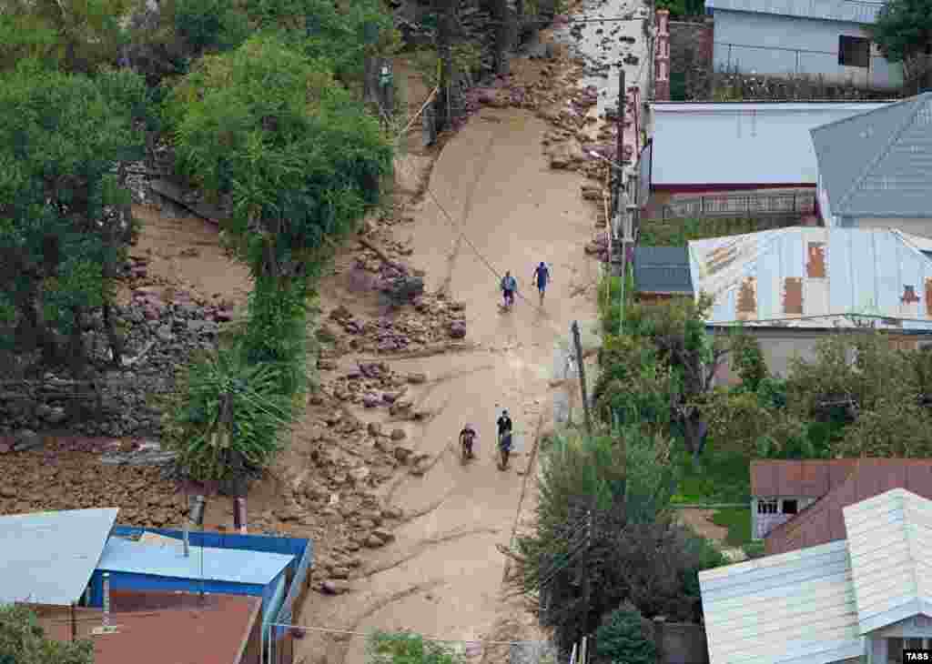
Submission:
M 294 556 L 281 553 L 244 549 L 191 547 L 190 551 L 191 555 L 185 557 L 181 549 L 154 547 L 121 537 L 111 537 L 103 549 L 103 557 L 97 569 L 104 572 L 204 578 L 209 581 L 265 586 L 294 559 Z

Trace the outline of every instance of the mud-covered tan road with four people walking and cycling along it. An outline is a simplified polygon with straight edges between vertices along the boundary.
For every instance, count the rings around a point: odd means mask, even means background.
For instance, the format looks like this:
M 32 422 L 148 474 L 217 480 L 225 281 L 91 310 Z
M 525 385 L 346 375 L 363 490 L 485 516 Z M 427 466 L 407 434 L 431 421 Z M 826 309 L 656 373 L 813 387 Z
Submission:
M 535 474 L 528 468 L 535 435 L 551 424 L 555 343 L 569 338 L 574 318 L 593 318 L 598 276 L 583 251 L 593 236 L 592 206 L 580 196 L 584 178 L 548 169 L 545 130 L 524 111 L 483 109 L 445 145 L 429 192 L 409 209 L 413 223 L 397 230 L 413 250 L 410 263 L 425 271 L 427 290 L 465 304 L 466 341 L 478 347 L 391 361 L 394 371 L 428 376 L 417 403 L 435 414 L 409 442 L 435 461 L 426 474 L 391 483 L 385 500 L 409 515 L 395 541 L 368 557 L 346 594 L 312 594 L 303 625 L 471 641 L 493 638 L 502 612 L 514 610 L 501 604 L 505 561 L 496 545 L 511 540 L 528 469 Z M 542 309 L 531 286 L 540 261 L 553 277 Z M 500 313 L 505 270 L 528 300 Z M 503 472 L 494 459 L 501 407 L 512 413 L 520 453 Z M 456 439 L 466 422 L 478 429 L 479 454 L 464 466 Z M 532 507 L 532 497 L 524 500 L 523 517 Z M 325 653 L 329 662 L 363 661 L 358 636 L 311 631 L 295 646 L 298 660 L 323 661 Z

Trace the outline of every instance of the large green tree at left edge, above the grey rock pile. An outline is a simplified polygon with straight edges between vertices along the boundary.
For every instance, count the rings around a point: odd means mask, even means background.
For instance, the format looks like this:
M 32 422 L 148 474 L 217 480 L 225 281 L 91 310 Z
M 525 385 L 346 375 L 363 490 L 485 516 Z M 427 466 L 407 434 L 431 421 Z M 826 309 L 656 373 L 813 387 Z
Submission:
M 135 230 L 115 166 L 142 156 L 132 129 L 143 81 L 129 72 L 43 71 L 34 61 L 0 75 L 0 300 L 7 342 L 41 351 L 41 365 L 81 377 L 87 318 L 109 318 L 117 266 Z M 107 321 L 115 361 L 120 344 Z

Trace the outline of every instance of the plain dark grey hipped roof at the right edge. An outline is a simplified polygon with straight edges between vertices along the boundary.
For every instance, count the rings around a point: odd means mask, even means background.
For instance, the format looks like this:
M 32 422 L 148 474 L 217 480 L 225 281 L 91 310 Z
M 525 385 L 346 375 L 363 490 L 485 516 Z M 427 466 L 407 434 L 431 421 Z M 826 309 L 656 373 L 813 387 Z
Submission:
M 833 216 L 932 216 L 932 92 L 811 133 Z

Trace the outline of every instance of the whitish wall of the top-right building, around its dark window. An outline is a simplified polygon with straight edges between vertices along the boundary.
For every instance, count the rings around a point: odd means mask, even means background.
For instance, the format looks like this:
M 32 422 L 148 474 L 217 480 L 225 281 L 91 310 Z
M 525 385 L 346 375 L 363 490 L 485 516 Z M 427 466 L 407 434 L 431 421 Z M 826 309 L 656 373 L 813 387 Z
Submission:
M 716 71 L 737 67 L 744 74 L 752 70 L 768 75 L 821 74 L 827 82 L 852 79 L 856 85 L 870 88 L 902 85 L 900 66 L 884 60 L 874 47 L 869 68 L 838 63 L 841 35 L 870 36 L 857 23 L 722 9 L 714 10 L 714 17 Z

